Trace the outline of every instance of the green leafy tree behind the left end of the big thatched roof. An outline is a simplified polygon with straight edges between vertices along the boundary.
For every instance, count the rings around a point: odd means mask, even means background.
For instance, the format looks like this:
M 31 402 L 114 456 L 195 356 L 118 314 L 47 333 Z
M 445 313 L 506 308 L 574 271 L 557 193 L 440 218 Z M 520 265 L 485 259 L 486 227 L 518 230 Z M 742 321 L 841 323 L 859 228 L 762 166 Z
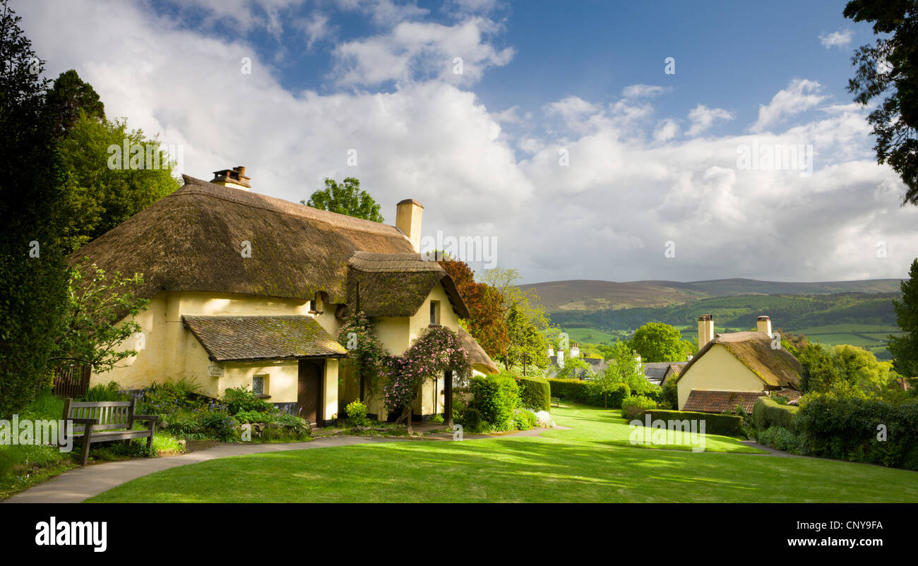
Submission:
M 76 112 L 76 121 L 61 141 L 68 250 L 98 238 L 180 186 L 172 176 L 175 163 L 160 150 L 157 139 L 146 138 L 140 129 L 129 131 L 125 120 L 108 121 L 82 108 Z M 129 148 L 144 149 L 141 167 L 132 169 L 138 163 L 123 155 L 125 140 Z M 118 149 L 121 163 L 109 148 Z

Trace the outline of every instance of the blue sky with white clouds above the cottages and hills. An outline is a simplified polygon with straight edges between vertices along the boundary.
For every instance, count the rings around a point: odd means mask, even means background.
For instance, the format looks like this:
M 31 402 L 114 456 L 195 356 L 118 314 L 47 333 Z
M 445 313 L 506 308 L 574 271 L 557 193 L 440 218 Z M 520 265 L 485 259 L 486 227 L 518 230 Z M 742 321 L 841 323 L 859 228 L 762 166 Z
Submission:
M 76 69 L 183 172 L 246 165 L 291 201 L 356 176 L 526 283 L 901 277 L 918 250 L 845 91 L 874 37 L 844 2 L 13 5 L 51 77 Z M 748 170 L 752 146 L 811 166 Z

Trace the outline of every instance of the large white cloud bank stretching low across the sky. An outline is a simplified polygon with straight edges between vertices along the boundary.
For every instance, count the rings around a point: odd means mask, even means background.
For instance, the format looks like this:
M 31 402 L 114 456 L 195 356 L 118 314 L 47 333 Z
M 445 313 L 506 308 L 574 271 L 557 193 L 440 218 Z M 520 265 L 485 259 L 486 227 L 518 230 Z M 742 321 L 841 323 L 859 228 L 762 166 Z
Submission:
M 823 100 L 815 82 L 790 83 L 760 111 L 763 129 L 742 135 L 679 137 L 677 118 L 656 116 L 645 98 L 572 94 L 524 116 L 532 128 L 514 138 L 502 125 L 517 124 L 521 111 L 487 108 L 442 78 L 436 57 L 411 55 L 397 74 L 409 79 L 391 92 L 293 93 L 269 61 L 241 74 L 241 57 L 254 52 L 243 39 L 183 28 L 144 5 L 18 9 L 51 77 L 76 69 L 110 117 L 183 144 L 185 172 L 208 178 L 246 165 L 252 190 L 294 202 L 325 177 L 354 176 L 390 223 L 399 200 L 417 198 L 425 235 L 497 237 L 498 265 L 528 282 L 899 277 L 918 250 L 918 208 L 900 207 L 901 181 L 875 162 L 865 111 L 825 105 L 800 119 L 801 105 Z M 383 32 L 390 47 L 400 25 Z M 412 29 L 429 35 L 404 44 L 453 44 L 456 29 Z M 487 45 L 472 31 L 467 45 Z M 429 78 L 414 64 L 430 66 Z M 699 105 L 689 131 L 725 113 Z M 812 145 L 812 174 L 740 168 L 737 149 L 753 143 Z M 664 253 L 668 240 L 675 258 Z M 886 258 L 876 256 L 880 240 Z

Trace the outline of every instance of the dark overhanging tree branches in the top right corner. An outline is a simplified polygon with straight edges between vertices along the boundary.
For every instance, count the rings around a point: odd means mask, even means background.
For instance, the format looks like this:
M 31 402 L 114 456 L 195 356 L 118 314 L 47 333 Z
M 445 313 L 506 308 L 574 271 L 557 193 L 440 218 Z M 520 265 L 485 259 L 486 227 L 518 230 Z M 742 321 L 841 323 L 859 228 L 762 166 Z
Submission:
M 889 163 L 908 187 L 902 205 L 918 205 L 918 1 L 852 0 L 844 15 L 873 22 L 874 34 L 891 34 L 856 50 L 848 92 L 861 105 L 889 93 L 868 117 L 877 137 L 874 150 L 877 161 Z

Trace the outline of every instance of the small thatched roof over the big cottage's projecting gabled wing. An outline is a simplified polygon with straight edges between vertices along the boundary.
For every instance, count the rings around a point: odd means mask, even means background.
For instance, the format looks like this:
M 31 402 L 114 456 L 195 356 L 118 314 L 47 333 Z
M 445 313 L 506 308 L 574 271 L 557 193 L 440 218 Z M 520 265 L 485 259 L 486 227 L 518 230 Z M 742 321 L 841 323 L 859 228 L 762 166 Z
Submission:
M 460 318 L 468 309 L 453 278 L 436 261 L 425 261 L 420 253 L 371 253 L 358 251 L 348 260 L 347 308 L 366 316 L 412 316 L 418 312 L 434 285 L 443 290 Z

